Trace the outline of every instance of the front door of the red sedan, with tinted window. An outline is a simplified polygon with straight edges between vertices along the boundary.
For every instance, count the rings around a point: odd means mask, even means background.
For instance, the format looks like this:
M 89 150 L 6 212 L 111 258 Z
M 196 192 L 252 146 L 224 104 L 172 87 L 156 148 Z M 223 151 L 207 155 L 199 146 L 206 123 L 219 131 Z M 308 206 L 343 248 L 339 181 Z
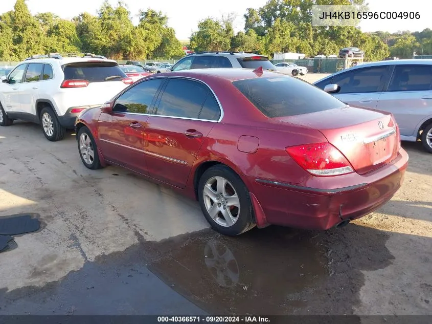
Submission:
M 105 159 L 147 175 L 144 128 L 163 81 L 155 78 L 137 83 L 113 102 L 111 113 L 100 115 L 99 145 Z

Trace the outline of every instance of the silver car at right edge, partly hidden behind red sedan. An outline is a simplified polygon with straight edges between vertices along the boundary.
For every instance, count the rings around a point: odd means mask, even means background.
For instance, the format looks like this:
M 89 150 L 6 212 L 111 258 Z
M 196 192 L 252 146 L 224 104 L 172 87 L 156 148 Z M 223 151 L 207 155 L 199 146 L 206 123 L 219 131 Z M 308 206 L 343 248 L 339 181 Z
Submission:
M 362 64 L 314 83 L 350 105 L 392 113 L 404 141 L 422 140 L 432 153 L 432 60 Z

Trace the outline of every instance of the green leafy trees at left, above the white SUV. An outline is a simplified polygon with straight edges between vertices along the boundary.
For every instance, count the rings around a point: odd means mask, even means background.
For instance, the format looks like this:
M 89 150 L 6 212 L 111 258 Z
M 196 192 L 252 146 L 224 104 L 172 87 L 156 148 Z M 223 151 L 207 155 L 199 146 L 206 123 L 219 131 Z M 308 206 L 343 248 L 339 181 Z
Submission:
M 13 11 L 0 15 L 0 58 L 19 61 L 52 52 L 95 53 L 113 59 L 184 55 L 166 15 L 147 9 L 139 17 L 139 25 L 133 26 L 121 1 L 116 7 L 105 1 L 96 16 L 84 12 L 72 21 L 50 12 L 32 16 L 25 0 L 16 0 Z

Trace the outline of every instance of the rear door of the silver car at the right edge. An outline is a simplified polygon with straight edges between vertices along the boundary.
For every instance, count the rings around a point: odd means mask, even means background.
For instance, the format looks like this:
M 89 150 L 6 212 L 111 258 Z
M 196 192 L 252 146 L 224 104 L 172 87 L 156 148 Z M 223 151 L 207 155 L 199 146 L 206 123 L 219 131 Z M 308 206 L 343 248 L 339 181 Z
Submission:
M 392 113 L 402 136 L 417 136 L 417 127 L 432 116 L 432 65 L 397 64 L 377 109 Z

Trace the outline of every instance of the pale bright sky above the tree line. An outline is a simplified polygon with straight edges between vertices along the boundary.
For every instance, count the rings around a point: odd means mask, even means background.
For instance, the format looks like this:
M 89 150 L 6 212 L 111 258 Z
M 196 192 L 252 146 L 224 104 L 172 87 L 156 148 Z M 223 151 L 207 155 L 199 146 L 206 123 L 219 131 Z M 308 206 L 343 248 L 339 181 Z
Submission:
M 117 0 L 109 0 L 112 5 L 117 4 Z M 198 21 L 207 17 L 219 18 L 222 14 L 234 13 L 236 19 L 234 28 L 236 31 L 244 27 L 243 14 L 247 8 L 262 7 L 266 0 L 160 0 L 142 2 L 139 0 L 123 0 L 132 15 L 137 15 L 140 9 L 148 7 L 162 11 L 169 20 L 169 27 L 174 28 L 175 34 L 180 40 L 187 40 L 193 31 L 196 31 Z M 426 0 L 368 0 L 370 11 L 414 11 L 419 12 L 420 19 L 414 20 L 362 20 L 361 30 L 373 32 L 377 30 L 396 32 L 398 30 L 422 31 L 425 28 L 432 28 L 432 12 L 426 5 Z M 53 0 L 27 0 L 27 6 L 32 14 L 39 12 L 52 12 L 58 16 L 71 19 L 81 12 L 87 11 L 96 14 L 103 0 L 72 0 L 72 1 L 53 1 Z M 15 0 L 0 0 L 0 13 L 13 9 Z M 138 18 L 134 17 L 134 23 Z

